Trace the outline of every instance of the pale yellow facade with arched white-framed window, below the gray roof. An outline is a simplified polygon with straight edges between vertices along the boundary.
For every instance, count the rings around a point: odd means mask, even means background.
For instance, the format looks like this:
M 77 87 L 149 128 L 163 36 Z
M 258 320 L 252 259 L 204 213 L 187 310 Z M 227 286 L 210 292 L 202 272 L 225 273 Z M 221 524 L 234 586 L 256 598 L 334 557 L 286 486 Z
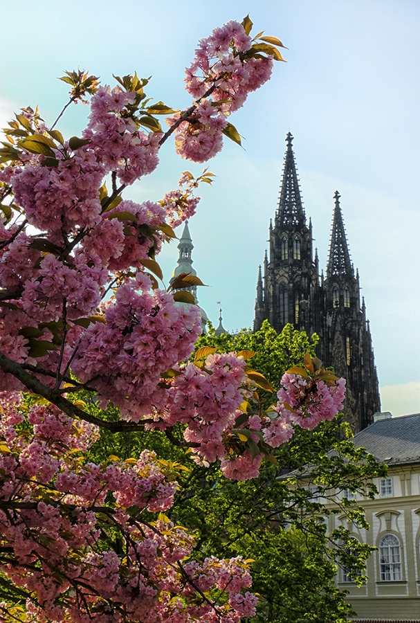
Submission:
M 420 622 L 420 462 L 390 467 L 384 481 L 374 480 L 379 491 L 374 500 L 356 495 L 369 530 L 348 522 L 345 514 L 329 517 L 330 530 L 344 525 L 360 542 L 378 548 L 367 561 L 365 586 L 347 581 L 342 569 L 337 584 L 349 592 L 360 619 Z

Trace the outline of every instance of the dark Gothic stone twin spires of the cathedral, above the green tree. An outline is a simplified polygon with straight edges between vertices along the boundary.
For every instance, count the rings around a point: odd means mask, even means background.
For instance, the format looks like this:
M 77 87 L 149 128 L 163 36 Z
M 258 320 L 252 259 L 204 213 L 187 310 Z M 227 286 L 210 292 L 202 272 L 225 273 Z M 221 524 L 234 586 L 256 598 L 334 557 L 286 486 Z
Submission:
M 274 223 L 270 222 L 269 253 L 266 251 L 263 271 L 259 267 L 254 330 L 268 320 L 278 332 L 291 323 L 309 336 L 318 334 L 318 357 L 347 379 L 343 410 L 356 433 L 372 424 L 374 413 L 381 410 L 365 300 L 362 298 L 360 305 L 359 276 L 350 260 L 338 192 L 334 195 L 327 271 L 325 276 L 319 273 L 292 140 L 289 132 L 280 201 Z

